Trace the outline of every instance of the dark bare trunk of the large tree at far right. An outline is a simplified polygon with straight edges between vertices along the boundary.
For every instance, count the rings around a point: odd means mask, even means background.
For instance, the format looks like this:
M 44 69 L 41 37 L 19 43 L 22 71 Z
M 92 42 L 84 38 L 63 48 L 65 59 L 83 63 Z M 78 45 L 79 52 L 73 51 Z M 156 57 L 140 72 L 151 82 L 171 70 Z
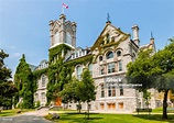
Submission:
M 166 108 L 167 108 L 167 93 L 168 93 L 168 89 L 164 91 L 164 99 L 163 99 L 163 119 L 167 119 L 167 112 L 166 112 Z

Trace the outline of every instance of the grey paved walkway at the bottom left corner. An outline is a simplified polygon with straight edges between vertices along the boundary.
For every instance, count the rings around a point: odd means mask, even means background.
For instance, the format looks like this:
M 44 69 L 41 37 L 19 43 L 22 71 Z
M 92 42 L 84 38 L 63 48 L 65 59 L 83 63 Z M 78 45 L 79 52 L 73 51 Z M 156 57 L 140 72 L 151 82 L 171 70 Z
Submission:
M 0 123 L 53 123 L 43 116 L 48 113 L 47 109 L 39 111 L 25 112 L 14 116 L 0 118 Z

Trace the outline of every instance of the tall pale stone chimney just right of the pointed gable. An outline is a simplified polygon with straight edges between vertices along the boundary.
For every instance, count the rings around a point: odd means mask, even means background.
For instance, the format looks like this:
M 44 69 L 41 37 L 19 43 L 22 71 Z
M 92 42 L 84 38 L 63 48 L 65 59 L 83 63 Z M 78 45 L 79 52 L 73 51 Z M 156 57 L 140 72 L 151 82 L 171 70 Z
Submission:
M 132 32 L 133 32 L 133 42 L 140 46 L 140 41 L 139 41 L 139 26 L 138 25 L 133 25 L 132 26 Z

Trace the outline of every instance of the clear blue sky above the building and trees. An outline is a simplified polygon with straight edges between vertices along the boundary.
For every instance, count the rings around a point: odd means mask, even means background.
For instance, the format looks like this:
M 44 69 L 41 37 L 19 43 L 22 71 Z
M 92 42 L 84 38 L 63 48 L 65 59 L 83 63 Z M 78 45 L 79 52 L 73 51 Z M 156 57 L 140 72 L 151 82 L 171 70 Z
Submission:
M 132 34 L 140 27 L 141 45 L 149 43 L 151 31 L 156 49 L 174 36 L 174 0 L 0 0 L 0 48 L 10 55 L 6 64 L 12 71 L 25 54 L 29 64 L 48 59 L 48 22 L 68 4 L 66 19 L 77 23 L 77 46 L 91 46 L 110 14 L 111 23 Z

